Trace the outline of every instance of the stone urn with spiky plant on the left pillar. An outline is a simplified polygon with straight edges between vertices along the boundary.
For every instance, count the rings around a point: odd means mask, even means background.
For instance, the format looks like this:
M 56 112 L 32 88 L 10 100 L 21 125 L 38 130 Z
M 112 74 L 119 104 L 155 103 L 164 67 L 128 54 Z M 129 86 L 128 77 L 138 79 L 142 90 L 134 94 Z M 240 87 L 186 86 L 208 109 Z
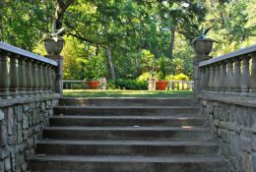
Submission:
M 46 33 L 43 36 L 44 48 L 48 55 L 59 55 L 64 46 L 64 39 L 60 36 L 63 33 L 64 28 L 56 30 L 56 23 L 52 25 L 50 33 Z

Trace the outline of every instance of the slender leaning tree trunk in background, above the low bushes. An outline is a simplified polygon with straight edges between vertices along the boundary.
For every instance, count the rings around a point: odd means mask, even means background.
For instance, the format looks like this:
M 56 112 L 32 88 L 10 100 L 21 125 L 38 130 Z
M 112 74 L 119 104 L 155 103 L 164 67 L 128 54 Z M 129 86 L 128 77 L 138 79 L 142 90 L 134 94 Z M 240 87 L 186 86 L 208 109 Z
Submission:
M 108 34 L 108 26 L 107 26 L 107 20 L 106 20 L 106 16 L 103 16 L 103 23 L 104 23 L 104 29 L 106 34 Z M 114 65 L 112 62 L 112 55 L 111 55 L 111 47 L 109 45 L 109 38 L 108 35 L 106 37 L 106 46 L 107 46 L 107 60 L 108 60 L 108 64 L 109 64 L 109 69 L 110 69 L 110 76 L 112 80 L 115 80 L 115 73 L 114 73 Z

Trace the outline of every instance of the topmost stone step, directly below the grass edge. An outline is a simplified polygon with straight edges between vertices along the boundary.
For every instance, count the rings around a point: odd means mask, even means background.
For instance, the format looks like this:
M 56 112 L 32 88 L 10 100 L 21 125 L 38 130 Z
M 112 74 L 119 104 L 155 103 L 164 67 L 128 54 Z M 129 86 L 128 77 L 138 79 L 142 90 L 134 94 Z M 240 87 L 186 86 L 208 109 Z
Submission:
M 193 98 L 142 98 L 142 97 L 119 97 L 119 98 L 61 98 L 61 106 L 194 106 Z

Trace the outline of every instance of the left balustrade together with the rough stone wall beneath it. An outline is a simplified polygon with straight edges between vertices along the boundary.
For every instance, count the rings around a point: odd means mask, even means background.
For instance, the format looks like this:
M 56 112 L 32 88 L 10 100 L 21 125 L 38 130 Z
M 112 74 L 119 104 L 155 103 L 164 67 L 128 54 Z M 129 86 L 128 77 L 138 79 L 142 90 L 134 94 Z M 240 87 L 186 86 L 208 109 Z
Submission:
M 0 41 L 1 172 L 27 171 L 34 145 L 58 105 L 62 89 L 59 61 Z

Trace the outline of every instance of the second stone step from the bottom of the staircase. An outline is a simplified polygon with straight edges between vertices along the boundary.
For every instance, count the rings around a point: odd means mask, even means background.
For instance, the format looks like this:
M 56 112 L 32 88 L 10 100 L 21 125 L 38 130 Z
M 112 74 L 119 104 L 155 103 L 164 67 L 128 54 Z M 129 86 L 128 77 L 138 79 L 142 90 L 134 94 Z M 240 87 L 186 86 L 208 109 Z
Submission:
M 218 154 L 218 143 L 195 141 L 63 141 L 37 143 L 36 152 L 47 155 L 173 156 Z

